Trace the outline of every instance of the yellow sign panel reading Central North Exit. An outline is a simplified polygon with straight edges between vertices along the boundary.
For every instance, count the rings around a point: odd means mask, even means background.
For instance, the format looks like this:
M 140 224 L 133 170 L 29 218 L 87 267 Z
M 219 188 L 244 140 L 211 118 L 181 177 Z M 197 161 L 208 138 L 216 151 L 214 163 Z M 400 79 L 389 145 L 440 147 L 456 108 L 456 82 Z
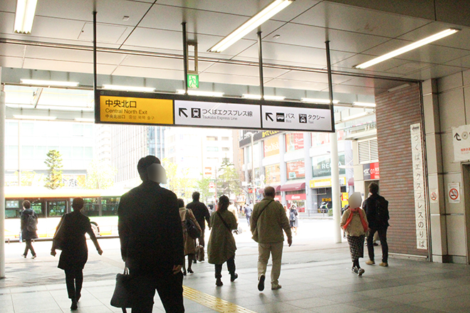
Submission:
M 173 100 L 100 95 L 100 121 L 173 124 Z

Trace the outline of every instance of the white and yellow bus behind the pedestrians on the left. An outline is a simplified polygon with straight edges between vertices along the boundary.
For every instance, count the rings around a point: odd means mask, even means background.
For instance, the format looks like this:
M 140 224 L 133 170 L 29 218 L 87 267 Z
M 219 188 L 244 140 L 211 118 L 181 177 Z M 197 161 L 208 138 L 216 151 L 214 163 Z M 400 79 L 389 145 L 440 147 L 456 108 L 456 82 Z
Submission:
M 19 240 L 20 213 L 25 200 L 38 214 L 38 237 L 52 238 L 61 216 L 72 211 L 72 201 L 85 201 L 82 213 L 96 235 L 117 235 L 117 206 L 125 190 L 5 187 L 5 240 Z

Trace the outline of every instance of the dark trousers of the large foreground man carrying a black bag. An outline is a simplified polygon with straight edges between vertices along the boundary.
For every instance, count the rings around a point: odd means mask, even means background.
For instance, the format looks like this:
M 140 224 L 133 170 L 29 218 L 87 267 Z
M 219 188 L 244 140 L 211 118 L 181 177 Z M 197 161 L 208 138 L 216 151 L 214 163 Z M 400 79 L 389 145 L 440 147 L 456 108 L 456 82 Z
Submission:
M 172 272 L 167 275 L 143 273 L 137 275 L 141 276 L 142 279 L 142 284 L 137 291 L 138 298 L 141 301 L 139 307 L 132 307 L 132 313 L 152 313 L 155 290 L 157 290 L 160 300 L 162 300 L 165 312 L 184 313 L 182 272 L 177 275 L 173 275 Z

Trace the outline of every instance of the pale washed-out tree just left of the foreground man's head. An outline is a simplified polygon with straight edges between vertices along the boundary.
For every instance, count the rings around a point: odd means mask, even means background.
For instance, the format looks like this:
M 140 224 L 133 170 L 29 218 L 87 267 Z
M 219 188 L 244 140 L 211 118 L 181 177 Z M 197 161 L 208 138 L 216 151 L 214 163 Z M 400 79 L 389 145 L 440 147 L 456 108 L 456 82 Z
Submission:
M 86 173 L 85 188 L 108 189 L 114 185 L 117 169 L 103 161 L 92 161 Z

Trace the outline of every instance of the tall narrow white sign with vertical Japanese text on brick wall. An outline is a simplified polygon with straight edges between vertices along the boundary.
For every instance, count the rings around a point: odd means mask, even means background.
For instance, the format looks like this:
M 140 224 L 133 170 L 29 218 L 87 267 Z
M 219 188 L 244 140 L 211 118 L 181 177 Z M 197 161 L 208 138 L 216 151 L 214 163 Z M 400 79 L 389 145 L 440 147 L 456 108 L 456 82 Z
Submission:
M 410 125 L 414 185 L 414 216 L 416 219 L 417 248 L 427 249 L 427 217 L 424 191 L 423 147 L 421 125 Z

